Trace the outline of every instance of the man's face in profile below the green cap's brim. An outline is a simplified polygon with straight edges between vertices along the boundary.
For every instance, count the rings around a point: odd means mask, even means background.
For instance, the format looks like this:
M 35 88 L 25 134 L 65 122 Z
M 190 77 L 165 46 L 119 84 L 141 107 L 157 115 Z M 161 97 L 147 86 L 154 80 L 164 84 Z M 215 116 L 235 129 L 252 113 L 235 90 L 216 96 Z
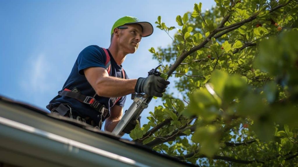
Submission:
M 120 29 L 119 45 L 125 52 L 134 53 L 139 47 L 142 39 L 142 26 L 139 24 L 129 24 L 122 27 L 127 29 Z

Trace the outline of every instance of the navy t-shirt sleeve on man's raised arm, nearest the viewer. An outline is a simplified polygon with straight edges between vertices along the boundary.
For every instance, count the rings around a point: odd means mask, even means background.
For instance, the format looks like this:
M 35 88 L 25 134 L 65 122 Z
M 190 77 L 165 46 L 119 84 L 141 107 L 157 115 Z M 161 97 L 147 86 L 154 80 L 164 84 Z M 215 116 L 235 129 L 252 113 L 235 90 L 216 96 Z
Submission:
M 84 75 L 84 69 L 89 67 L 105 68 L 105 60 L 106 56 L 103 49 L 93 45 L 87 46 L 77 58 L 79 74 Z

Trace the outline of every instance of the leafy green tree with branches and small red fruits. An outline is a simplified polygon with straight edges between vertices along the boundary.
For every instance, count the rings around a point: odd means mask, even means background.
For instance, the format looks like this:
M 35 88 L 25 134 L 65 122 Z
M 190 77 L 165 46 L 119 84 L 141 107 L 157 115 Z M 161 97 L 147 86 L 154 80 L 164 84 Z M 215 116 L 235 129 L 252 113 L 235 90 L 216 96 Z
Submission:
M 176 18 L 171 46 L 151 48 L 173 93 L 134 141 L 199 166 L 298 166 L 295 0 L 215 0 Z

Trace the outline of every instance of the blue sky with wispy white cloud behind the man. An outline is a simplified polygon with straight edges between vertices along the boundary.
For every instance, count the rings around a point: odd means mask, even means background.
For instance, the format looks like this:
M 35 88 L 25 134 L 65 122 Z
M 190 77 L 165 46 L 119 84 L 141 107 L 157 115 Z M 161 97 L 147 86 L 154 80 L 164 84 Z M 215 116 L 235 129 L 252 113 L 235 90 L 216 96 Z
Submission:
M 199 2 L 203 10 L 215 4 L 210 0 L 0 0 L 0 95 L 46 110 L 80 51 L 89 45 L 108 48 L 111 27 L 118 18 L 134 16 L 155 27 L 161 15 L 167 26 L 177 27 L 176 16 L 193 11 L 194 3 Z M 128 76 L 147 76 L 158 65 L 148 49 L 170 43 L 165 32 L 154 28 L 151 36 L 142 38 L 138 51 L 127 55 L 123 67 Z M 127 100 L 124 110 L 131 103 Z M 142 124 L 159 104 L 160 100 L 150 103 Z

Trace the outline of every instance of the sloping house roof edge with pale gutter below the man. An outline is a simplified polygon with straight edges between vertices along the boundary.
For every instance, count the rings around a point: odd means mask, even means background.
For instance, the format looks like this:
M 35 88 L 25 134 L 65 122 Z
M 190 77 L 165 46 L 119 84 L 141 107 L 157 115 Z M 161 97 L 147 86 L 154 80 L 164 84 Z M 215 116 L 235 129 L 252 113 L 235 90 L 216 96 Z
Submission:
M 83 122 L 3 96 L 0 154 L 0 163 L 16 166 L 193 166 Z

